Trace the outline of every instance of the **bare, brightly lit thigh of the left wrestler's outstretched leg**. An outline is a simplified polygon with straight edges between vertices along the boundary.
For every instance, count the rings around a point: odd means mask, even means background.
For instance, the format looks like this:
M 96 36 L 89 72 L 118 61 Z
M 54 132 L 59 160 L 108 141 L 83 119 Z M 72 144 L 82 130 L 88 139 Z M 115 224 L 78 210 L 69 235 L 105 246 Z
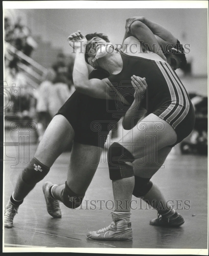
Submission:
M 74 138 L 74 130 L 63 115 L 55 115 L 48 125 L 36 150 L 35 157 L 44 165 L 51 167 L 56 158 Z

